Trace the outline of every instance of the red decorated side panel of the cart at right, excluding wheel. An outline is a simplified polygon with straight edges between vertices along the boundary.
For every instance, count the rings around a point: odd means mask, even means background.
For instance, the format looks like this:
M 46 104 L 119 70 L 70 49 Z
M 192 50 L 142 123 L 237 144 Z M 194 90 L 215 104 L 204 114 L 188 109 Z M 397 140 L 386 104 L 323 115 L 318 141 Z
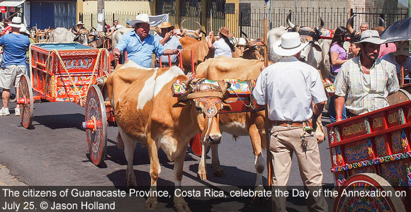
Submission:
M 363 173 L 374 173 L 405 192 L 400 199 L 411 210 L 411 101 L 328 124 L 327 134 L 337 189 L 367 178 Z M 362 178 L 359 182 L 365 182 Z M 337 211 L 348 204 L 341 201 L 347 198 L 337 199 Z

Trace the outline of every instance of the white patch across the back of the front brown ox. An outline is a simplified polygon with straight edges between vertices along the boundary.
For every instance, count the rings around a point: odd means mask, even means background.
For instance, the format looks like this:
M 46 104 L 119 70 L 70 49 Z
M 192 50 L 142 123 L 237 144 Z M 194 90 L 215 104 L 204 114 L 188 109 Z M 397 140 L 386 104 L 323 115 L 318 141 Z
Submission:
M 152 100 L 167 83 L 180 75 L 184 75 L 184 72 L 176 66 L 169 69 L 154 69 L 154 73 L 145 81 L 138 95 L 137 110 L 142 110 L 145 104 Z

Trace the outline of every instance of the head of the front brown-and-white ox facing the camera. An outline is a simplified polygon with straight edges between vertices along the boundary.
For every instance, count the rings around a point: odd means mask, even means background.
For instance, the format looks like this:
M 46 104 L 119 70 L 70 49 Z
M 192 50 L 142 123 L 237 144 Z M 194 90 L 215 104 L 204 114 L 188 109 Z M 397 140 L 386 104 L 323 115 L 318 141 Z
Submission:
M 221 143 L 222 138 L 219 112 L 231 110 L 230 105 L 224 102 L 228 98 L 227 88 L 230 88 L 230 83 L 217 81 L 217 86 L 203 81 L 204 79 L 188 81 L 187 91 L 179 97 L 179 102 L 191 105 L 191 119 L 201 131 L 201 142 L 215 145 Z

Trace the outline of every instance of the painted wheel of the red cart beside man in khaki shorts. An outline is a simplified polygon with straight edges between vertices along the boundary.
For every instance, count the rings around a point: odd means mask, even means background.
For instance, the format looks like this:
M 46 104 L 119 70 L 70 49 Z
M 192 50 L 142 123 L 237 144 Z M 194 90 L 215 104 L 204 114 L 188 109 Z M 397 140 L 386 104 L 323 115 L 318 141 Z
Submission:
M 23 74 L 18 83 L 18 107 L 20 107 L 21 125 L 28 129 L 33 122 L 33 87 L 30 79 Z

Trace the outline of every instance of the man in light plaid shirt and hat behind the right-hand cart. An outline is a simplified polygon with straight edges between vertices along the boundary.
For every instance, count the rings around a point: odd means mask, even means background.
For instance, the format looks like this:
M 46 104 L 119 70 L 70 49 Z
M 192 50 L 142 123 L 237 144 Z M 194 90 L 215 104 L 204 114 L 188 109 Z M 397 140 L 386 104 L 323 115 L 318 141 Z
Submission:
M 342 120 L 342 105 L 347 117 L 388 106 L 387 96 L 400 89 L 395 66 L 378 58 L 381 40 L 376 30 L 361 33 L 359 57 L 342 64 L 334 82 L 337 122 Z

